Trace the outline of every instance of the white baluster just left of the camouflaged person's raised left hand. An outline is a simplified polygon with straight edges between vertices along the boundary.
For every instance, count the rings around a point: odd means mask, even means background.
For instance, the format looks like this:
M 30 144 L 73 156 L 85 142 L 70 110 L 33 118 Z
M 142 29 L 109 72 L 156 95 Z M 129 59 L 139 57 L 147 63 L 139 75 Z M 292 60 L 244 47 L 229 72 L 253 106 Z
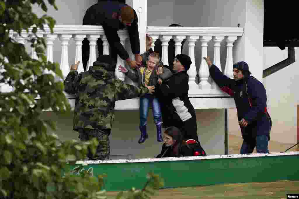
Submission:
M 68 64 L 68 41 L 72 35 L 59 35 L 61 41 L 61 61 L 60 70 L 63 75 L 63 79 L 66 78 L 68 72 L 70 72 L 70 65 Z

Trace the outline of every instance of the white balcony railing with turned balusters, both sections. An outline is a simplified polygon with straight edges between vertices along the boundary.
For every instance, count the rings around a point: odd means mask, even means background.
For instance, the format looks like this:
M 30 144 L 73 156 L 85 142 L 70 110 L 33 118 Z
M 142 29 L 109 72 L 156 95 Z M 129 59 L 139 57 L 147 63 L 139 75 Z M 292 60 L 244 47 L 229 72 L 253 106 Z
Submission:
M 62 74 L 64 78 L 69 72 L 69 59 L 75 57 L 75 62 L 80 60 L 80 65 L 78 68 L 78 72 L 83 71 L 82 65 L 82 52 L 81 46 L 82 41 L 85 37 L 88 38 L 90 41 L 90 55 L 89 55 L 89 62 L 87 66 L 87 70 L 89 66 L 92 65 L 94 61 L 96 61 L 96 40 L 97 38 L 101 38 L 103 41 L 103 53 L 109 54 L 109 44 L 107 38 L 104 34 L 104 30 L 101 26 L 81 26 L 81 25 L 56 25 L 54 27 L 54 33 L 50 33 L 50 29 L 45 27 L 45 31 L 39 30 L 37 32 L 38 36 L 42 36 L 46 40 L 47 44 L 47 58 L 48 61 L 53 62 L 53 44 L 54 40 L 59 39 L 61 41 L 61 61 L 60 61 L 60 68 L 62 70 Z M 129 55 L 132 59 L 135 56 L 132 53 L 129 42 L 129 36 L 126 30 L 118 31 L 120 36 L 121 43 L 125 46 L 128 50 Z M 225 40 L 225 46 L 227 48 L 227 55 L 226 55 L 226 64 L 225 64 L 225 75 L 228 77 L 232 77 L 232 67 L 233 67 L 233 43 L 237 39 L 238 36 L 242 36 L 243 28 L 239 27 L 147 27 L 147 34 L 151 36 L 154 40 L 152 47 L 155 46 L 155 41 L 160 39 L 162 42 L 162 61 L 165 64 L 168 64 L 168 52 L 167 46 L 168 41 L 173 38 L 175 41 L 176 53 L 181 53 L 181 42 L 183 39 L 186 39 L 186 43 L 188 46 L 188 54 L 191 58 L 192 64 L 190 69 L 188 70 L 189 75 L 189 96 L 190 97 L 222 97 L 227 96 L 224 92 L 222 92 L 216 84 L 209 78 L 209 70 L 208 65 L 206 64 L 205 60 L 200 59 L 199 67 L 196 67 L 196 41 L 200 41 L 200 48 L 201 48 L 201 57 L 205 57 L 208 54 L 208 42 L 210 40 L 213 41 L 213 48 L 214 48 L 214 55 L 213 61 L 214 64 L 220 67 L 220 46 L 222 41 Z M 19 43 L 25 43 L 25 38 L 32 37 L 33 35 L 26 33 L 25 31 L 19 36 L 16 33 L 11 34 L 12 37 L 15 37 Z M 75 54 L 68 53 L 68 45 L 69 41 L 73 39 L 75 41 Z M 128 42 L 126 42 L 128 41 Z M 141 41 L 143 42 L 143 41 Z M 127 45 L 126 45 L 127 43 Z M 142 51 L 142 50 L 141 50 Z M 142 53 L 142 52 L 141 52 Z M 37 58 L 34 49 L 31 49 L 31 56 L 32 58 Z M 123 61 L 119 56 L 117 60 L 118 65 L 125 65 L 125 61 Z M 199 68 L 199 84 L 196 84 L 196 68 Z M 220 67 L 221 70 L 221 67 Z M 119 72 L 116 68 L 115 75 L 117 78 L 126 81 L 129 84 L 134 84 L 129 78 L 126 78 L 125 75 Z M 8 88 L 8 87 L 7 87 Z M 2 86 L 1 92 L 5 92 L 7 89 L 4 89 Z M 69 96 L 71 97 L 71 96 Z

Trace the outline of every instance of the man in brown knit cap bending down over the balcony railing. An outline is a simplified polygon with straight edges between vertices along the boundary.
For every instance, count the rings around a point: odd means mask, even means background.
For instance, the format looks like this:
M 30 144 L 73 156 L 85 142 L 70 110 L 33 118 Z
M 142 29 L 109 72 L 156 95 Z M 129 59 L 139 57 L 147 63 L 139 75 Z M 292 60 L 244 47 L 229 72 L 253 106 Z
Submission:
M 117 55 L 119 55 L 130 67 L 138 67 L 141 65 L 138 17 L 132 7 L 117 1 L 99 1 L 86 10 L 83 25 L 103 26 L 109 45 L 112 47 L 111 55 L 115 60 L 117 59 Z M 128 52 L 120 43 L 117 31 L 125 28 L 127 28 L 129 32 L 132 52 L 135 54 L 135 61 L 131 60 Z M 82 43 L 83 67 L 86 69 L 86 64 L 89 60 L 89 41 L 85 38 Z M 98 43 L 98 47 L 99 46 Z

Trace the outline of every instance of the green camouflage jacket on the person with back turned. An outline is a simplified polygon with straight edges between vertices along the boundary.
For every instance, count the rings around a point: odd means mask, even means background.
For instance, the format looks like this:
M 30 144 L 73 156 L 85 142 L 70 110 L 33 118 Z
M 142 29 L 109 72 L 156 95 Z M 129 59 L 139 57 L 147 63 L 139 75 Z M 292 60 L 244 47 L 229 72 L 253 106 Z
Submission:
M 74 110 L 74 130 L 111 129 L 115 101 L 139 97 L 148 93 L 147 87 L 135 87 L 115 78 L 114 71 L 92 66 L 78 75 L 71 70 L 65 78 L 65 92 L 77 94 Z

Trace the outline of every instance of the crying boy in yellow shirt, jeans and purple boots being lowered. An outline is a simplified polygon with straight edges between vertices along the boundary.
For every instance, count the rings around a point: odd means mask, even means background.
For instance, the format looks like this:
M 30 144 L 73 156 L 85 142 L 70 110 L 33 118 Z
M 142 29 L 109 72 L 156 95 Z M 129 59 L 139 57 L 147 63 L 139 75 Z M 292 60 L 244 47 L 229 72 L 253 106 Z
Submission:
M 147 36 L 147 45 L 146 52 L 141 55 L 143 67 L 134 70 L 127 70 L 125 67 L 119 66 L 118 70 L 120 72 L 125 73 L 132 81 L 138 82 L 139 85 L 145 84 L 149 86 L 158 86 L 163 81 L 167 80 L 172 73 L 169 69 L 162 69 L 163 63 L 159 62 L 160 56 L 158 53 L 154 53 L 152 48 L 150 48 L 150 44 L 152 43 L 152 39 Z M 140 126 L 139 129 L 141 131 L 140 139 L 138 140 L 139 144 L 144 143 L 144 141 L 148 138 L 147 134 L 147 115 L 149 111 L 149 104 L 152 104 L 152 113 L 154 116 L 154 121 L 157 129 L 157 141 L 162 142 L 162 114 L 161 114 L 161 106 L 158 98 L 155 94 L 146 94 L 140 97 Z

